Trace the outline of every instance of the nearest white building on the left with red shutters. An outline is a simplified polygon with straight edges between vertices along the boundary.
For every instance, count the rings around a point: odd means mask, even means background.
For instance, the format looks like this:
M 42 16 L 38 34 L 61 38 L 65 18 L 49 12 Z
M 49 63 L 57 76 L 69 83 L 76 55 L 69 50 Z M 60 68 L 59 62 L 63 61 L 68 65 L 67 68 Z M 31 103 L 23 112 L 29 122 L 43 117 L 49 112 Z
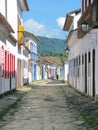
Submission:
M 0 94 L 16 88 L 16 1 L 10 1 L 15 12 L 11 11 L 9 1 L 0 1 Z M 12 17 L 14 20 L 12 20 Z

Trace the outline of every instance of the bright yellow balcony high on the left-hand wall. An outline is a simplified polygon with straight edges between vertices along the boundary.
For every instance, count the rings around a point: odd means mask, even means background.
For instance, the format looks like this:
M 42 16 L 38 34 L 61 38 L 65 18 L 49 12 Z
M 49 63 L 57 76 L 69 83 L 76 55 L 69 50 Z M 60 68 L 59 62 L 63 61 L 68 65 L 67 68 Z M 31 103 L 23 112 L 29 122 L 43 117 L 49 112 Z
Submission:
M 18 27 L 18 44 L 23 45 L 23 32 L 24 32 L 24 27 L 19 25 Z

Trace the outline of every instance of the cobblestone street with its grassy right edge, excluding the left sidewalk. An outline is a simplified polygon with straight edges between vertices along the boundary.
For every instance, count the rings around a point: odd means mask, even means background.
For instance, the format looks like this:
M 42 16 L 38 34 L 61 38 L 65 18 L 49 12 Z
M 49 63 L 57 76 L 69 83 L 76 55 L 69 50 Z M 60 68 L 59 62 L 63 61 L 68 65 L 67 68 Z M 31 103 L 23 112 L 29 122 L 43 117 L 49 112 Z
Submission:
M 33 82 L 0 130 L 98 130 L 98 104 L 61 81 Z

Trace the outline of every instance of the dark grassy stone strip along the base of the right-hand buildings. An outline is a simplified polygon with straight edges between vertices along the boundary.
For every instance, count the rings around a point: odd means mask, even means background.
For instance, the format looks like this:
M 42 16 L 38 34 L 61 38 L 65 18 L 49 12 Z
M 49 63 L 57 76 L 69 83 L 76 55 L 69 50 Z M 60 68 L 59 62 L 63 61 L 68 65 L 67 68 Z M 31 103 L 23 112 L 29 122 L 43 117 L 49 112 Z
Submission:
M 98 130 L 98 102 L 69 86 L 61 88 L 69 110 L 75 110 L 83 117 L 87 130 Z

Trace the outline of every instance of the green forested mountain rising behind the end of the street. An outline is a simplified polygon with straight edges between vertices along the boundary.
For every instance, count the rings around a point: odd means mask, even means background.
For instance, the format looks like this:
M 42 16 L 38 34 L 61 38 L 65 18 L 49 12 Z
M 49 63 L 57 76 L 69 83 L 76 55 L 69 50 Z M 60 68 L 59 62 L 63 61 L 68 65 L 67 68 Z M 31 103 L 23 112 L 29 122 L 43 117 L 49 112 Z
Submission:
M 40 42 L 38 43 L 38 54 L 43 55 L 55 55 L 64 53 L 66 48 L 65 40 L 56 38 L 40 37 Z

